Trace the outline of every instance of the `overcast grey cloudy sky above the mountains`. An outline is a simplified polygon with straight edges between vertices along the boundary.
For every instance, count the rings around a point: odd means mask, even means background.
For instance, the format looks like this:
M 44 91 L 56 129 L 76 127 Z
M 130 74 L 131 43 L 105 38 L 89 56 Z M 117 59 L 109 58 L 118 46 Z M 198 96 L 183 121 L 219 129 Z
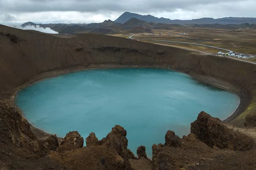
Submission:
M 171 20 L 256 17 L 256 0 L 0 0 L 0 23 L 85 23 L 123 12 Z

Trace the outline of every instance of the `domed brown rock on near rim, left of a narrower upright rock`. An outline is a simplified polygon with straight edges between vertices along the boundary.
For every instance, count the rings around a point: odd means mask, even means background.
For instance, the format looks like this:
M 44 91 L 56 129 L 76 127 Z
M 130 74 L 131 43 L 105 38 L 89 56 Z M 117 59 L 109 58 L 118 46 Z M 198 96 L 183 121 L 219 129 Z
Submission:
M 78 133 L 78 131 L 73 131 L 67 133 L 64 139 L 61 141 L 60 146 L 56 150 L 57 152 L 66 152 L 70 150 L 76 150 L 84 145 L 84 138 Z

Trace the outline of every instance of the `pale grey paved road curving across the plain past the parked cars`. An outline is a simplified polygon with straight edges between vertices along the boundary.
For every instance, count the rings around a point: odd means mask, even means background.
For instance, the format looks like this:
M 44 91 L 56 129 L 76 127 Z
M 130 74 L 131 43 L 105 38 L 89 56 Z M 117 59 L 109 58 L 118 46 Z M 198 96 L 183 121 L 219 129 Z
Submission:
M 154 34 L 148 34 L 148 35 L 154 35 Z M 135 39 L 133 37 L 135 36 L 147 36 L 147 35 L 132 35 L 131 37 L 129 37 L 130 39 Z M 202 44 L 195 44 L 195 43 L 190 43 L 190 42 L 177 42 L 177 41 L 165 41 L 165 40 L 149 40 L 149 39 L 137 39 L 136 40 L 147 40 L 147 41 L 159 41 L 159 42 L 175 42 L 175 43 L 182 43 L 182 44 L 192 44 L 192 45 L 200 45 L 200 46 L 205 46 L 205 47 L 209 47 L 209 48 L 217 48 L 217 49 L 220 49 L 220 50 L 225 50 L 225 51 L 229 51 L 229 52 L 232 52 L 231 50 L 228 50 L 228 49 L 224 49 L 224 48 L 218 48 L 218 47 L 212 47 L 212 46 L 209 46 L 209 45 L 202 45 Z M 245 54 L 245 55 L 248 55 L 248 54 Z M 251 55 L 249 55 L 251 56 Z M 225 56 L 227 57 L 227 56 Z M 252 57 L 252 56 L 251 56 Z M 246 60 L 241 60 L 241 59 L 237 59 L 236 57 L 229 57 L 231 59 L 236 59 L 236 60 L 239 60 L 239 61 L 242 61 L 242 62 L 248 62 L 248 63 L 251 63 L 251 64 L 255 64 L 256 65 L 256 62 L 250 62 L 250 61 L 246 61 Z M 250 58 L 250 57 L 246 57 L 246 58 Z

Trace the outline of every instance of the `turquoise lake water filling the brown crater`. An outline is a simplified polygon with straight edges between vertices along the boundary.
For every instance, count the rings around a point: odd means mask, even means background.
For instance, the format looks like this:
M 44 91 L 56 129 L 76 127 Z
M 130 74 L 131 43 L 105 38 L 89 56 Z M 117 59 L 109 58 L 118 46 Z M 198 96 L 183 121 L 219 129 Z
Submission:
M 127 130 L 128 148 L 140 145 L 151 156 L 154 143 L 164 143 L 167 130 L 182 137 L 205 111 L 226 119 L 239 105 L 239 96 L 157 68 L 79 71 L 37 82 L 17 93 L 16 104 L 28 121 L 64 137 L 77 130 L 98 139 L 115 125 Z M 84 144 L 85 145 L 85 144 Z

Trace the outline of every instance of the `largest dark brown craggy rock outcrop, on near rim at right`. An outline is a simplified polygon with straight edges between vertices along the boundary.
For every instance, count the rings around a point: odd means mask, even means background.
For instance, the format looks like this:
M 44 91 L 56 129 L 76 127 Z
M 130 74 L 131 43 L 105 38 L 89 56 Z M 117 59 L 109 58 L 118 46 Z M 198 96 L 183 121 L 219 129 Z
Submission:
M 256 145 L 251 137 L 227 128 L 220 119 L 205 112 L 199 113 L 197 120 L 191 123 L 191 133 L 209 147 L 245 151 Z

